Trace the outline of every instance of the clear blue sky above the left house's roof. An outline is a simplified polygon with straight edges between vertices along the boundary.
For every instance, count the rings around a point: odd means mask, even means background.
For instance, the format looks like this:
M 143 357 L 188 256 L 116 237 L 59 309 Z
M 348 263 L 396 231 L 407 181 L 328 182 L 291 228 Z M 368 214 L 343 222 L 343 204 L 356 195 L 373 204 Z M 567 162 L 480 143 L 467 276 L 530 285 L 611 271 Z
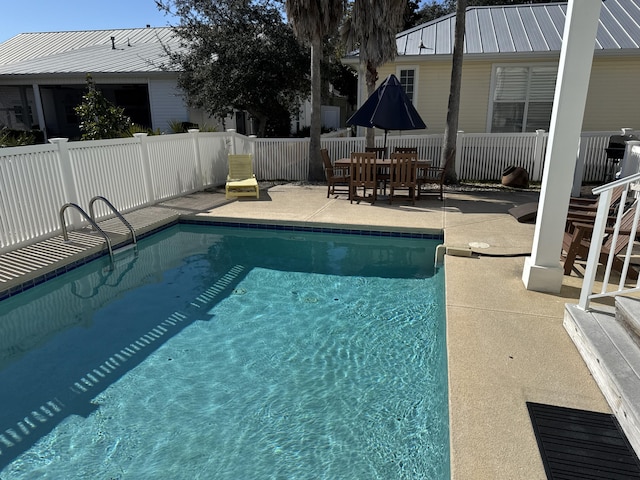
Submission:
M 0 42 L 19 33 L 166 27 L 154 0 L 0 0 Z

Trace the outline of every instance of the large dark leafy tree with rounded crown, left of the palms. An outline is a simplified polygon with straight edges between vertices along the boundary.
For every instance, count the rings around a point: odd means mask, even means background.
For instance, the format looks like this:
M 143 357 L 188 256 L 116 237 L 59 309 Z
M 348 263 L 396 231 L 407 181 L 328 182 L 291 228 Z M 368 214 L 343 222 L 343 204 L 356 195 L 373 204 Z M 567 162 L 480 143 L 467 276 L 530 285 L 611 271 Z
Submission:
M 156 0 L 179 19 L 180 48 L 166 48 L 187 103 L 224 121 L 248 112 L 265 136 L 309 95 L 309 54 L 269 0 Z M 177 67 L 177 68 L 176 68 Z

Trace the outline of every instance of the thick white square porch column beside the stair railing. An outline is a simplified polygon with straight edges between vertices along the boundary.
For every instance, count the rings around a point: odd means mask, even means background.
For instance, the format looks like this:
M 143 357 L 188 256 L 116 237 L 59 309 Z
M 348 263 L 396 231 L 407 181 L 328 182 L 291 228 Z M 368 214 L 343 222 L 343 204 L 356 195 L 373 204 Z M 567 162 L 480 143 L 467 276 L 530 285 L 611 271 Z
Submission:
M 562 287 L 562 237 L 601 4 L 602 0 L 569 0 L 538 217 L 531 256 L 522 273 L 527 290 L 557 293 Z

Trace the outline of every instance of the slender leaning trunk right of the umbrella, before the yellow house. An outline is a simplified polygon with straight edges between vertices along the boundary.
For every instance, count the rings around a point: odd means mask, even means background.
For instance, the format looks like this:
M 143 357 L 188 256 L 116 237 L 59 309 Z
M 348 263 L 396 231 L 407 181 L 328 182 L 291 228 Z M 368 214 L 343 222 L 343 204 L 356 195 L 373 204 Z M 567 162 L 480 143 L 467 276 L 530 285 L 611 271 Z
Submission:
M 462 85 L 462 51 L 464 47 L 464 30 L 466 22 L 467 0 L 458 0 L 456 5 L 456 29 L 451 60 L 451 87 L 449 90 L 449 108 L 447 110 L 447 126 L 444 130 L 444 144 L 440 165 L 447 165 L 447 160 L 456 155 L 456 139 L 458 134 L 458 113 L 460 111 L 460 87 Z M 453 161 L 449 162 L 445 172 L 446 183 L 457 183 L 456 169 Z

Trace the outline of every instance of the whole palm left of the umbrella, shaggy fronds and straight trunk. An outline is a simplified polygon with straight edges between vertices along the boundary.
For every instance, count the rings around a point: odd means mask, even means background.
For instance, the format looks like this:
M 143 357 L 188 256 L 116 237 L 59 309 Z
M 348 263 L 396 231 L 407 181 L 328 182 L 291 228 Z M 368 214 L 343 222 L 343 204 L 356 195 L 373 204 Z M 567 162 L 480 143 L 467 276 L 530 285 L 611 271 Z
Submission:
M 287 17 L 293 25 L 294 33 L 299 39 L 311 44 L 310 180 L 324 178 L 320 157 L 322 40 L 337 30 L 343 12 L 344 0 L 287 0 Z

